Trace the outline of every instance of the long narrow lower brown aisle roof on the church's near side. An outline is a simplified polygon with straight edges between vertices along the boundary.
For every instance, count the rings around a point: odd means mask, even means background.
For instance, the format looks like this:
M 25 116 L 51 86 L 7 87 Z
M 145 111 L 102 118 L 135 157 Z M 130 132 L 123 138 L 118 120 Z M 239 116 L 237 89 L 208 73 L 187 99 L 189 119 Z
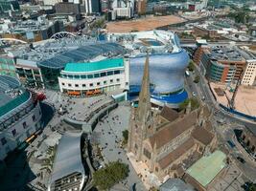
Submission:
M 173 161 L 180 158 L 183 154 L 185 154 L 191 147 L 193 147 L 195 144 L 193 138 L 189 138 L 186 140 L 183 144 L 181 144 L 179 147 L 177 147 L 173 152 L 169 153 L 164 158 L 160 159 L 158 161 L 160 167 L 162 169 L 165 169 L 167 166 L 169 166 Z

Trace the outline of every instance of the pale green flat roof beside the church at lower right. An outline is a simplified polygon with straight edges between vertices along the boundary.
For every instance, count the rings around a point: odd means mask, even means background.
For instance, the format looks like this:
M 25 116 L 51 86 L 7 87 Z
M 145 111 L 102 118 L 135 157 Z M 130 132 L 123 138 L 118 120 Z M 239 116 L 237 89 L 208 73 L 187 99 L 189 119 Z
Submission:
M 225 166 L 226 155 L 221 151 L 215 151 L 210 156 L 202 157 L 193 164 L 186 173 L 197 180 L 202 186 L 206 186 L 221 172 Z

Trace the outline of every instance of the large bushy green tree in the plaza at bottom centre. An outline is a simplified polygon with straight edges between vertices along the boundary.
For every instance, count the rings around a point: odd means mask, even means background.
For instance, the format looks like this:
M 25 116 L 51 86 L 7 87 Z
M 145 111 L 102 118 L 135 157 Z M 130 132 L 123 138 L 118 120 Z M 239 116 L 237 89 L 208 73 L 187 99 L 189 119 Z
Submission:
M 93 174 L 93 183 L 100 190 L 107 190 L 121 180 L 128 177 L 128 164 L 120 161 L 112 161 L 106 164 L 105 168 Z

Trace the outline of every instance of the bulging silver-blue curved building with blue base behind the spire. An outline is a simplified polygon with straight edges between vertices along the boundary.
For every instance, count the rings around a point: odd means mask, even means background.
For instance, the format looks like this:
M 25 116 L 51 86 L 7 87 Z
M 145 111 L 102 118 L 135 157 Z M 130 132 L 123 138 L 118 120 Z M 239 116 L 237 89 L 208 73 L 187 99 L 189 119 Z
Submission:
M 180 48 L 174 32 L 114 33 L 109 34 L 108 39 L 123 42 L 130 53 L 130 96 L 137 96 L 140 92 L 146 53 L 150 52 L 151 102 L 178 107 L 188 97 L 184 89 L 184 74 L 189 55 Z

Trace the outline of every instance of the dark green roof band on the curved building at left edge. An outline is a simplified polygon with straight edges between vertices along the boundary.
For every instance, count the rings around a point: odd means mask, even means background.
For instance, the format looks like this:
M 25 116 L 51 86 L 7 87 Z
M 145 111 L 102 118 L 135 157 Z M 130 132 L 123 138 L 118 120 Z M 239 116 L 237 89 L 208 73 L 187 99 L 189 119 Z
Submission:
M 0 107 L 0 117 L 9 113 L 14 108 L 21 105 L 22 103 L 26 102 L 29 98 L 30 98 L 30 93 L 27 91 L 25 93 L 23 93 L 22 95 L 15 97 L 11 101 L 9 101 L 7 104 Z

